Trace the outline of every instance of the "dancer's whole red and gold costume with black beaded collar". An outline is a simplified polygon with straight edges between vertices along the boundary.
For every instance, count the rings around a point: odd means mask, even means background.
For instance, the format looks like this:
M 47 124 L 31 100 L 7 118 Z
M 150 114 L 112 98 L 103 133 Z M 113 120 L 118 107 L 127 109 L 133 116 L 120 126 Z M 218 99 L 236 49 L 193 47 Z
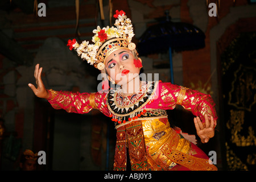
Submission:
M 165 82 L 144 81 L 141 89 L 123 96 L 108 93 L 73 93 L 49 90 L 49 103 L 69 113 L 98 109 L 112 118 L 117 129 L 114 170 L 126 169 L 126 148 L 132 170 L 217 170 L 195 144 L 170 127 L 166 110 L 181 105 L 204 122 L 204 114 L 217 119 L 212 98 L 195 90 Z

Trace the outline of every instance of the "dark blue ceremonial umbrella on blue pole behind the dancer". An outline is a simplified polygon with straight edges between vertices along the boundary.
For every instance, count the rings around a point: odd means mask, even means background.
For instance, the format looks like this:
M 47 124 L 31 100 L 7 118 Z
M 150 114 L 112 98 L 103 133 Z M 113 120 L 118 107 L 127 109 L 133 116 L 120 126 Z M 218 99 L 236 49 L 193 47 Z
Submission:
M 147 28 L 139 38 L 137 49 L 140 56 L 169 51 L 171 82 L 174 83 L 172 50 L 176 52 L 205 47 L 205 34 L 198 27 L 185 22 L 172 22 L 169 12 L 158 18 L 158 23 Z

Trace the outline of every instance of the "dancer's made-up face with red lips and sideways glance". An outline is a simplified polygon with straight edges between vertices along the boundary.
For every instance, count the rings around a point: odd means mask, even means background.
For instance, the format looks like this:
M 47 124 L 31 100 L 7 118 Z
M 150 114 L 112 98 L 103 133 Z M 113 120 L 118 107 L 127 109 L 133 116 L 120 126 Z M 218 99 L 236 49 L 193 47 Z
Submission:
M 108 75 L 118 85 L 127 84 L 139 76 L 138 61 L 128 49 L 118 49 L 112 52 L 105 60 Z

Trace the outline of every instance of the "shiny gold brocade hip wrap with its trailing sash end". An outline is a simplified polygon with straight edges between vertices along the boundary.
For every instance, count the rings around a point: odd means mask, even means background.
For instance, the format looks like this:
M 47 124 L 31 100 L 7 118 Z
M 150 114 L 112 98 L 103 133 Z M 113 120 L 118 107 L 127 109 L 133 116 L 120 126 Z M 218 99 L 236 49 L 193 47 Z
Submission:
M 208 159 L 189 155 L 191 142 L 181 138 L 170 127 L 168 118 L 142 121 L 147 148 L 148 168 L 151 170 L 171 170 L 176 164 L 192 171 L 217 170 Z

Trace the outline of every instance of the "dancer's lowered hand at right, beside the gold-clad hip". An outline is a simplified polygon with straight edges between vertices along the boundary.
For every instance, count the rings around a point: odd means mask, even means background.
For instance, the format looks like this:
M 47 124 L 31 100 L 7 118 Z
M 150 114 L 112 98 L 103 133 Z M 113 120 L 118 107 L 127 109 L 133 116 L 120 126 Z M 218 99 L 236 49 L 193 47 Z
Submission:
M 210 138 L 214 137 L 214 127 L 216 121 L 214 121 L 213 117 L 210 116 L 210 121 L 208 119 L 208 115 L 204 115 L 205 123 L 201 122 L 200 118 L 197 116 L 194 118 L 194 123 L 196 126 L 196 133 L 200 137 L 202 143 L 207 143 Z

